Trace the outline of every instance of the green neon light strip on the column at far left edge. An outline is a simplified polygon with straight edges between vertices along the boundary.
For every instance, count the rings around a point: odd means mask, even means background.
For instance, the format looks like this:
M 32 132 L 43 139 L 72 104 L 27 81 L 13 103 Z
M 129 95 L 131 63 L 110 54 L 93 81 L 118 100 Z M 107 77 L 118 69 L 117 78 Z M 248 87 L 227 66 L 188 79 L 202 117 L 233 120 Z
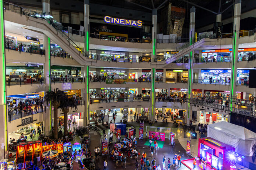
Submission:
M 4 127 L 5 127 L 5 132 L 4 132 L 4 149 L 5 151 L 8 150 L 8 134 L 7 134 L 7 107 L 6 107 L 6 61 L 5 61 L 5 48 L 4 48 L 4 11 L 3 11 L 3 0 L 0 0 L 0 23 L 1 23 L 1 35 L 0 35 L 0 41 L 1 41 L 1 45 L 2 45 L 2 86 L 3 86 L 3 104 L 4 104 Z

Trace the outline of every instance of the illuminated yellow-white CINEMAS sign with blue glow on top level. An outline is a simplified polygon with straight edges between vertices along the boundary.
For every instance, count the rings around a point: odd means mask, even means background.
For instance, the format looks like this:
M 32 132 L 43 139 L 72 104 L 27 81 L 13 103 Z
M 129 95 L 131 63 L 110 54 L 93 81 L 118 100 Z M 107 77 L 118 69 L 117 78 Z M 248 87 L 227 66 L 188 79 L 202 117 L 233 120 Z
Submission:
M 142 21 L 134 21 L 134 20 L 129 20 L 129 19 L 120 19 L 120 18 L 112 18 L 111 16 L 105 16 L 104 17 L 104 22 L 106 23 L 117 23 L 121 25 L 132 25 L 132 26 L 142 26 Z

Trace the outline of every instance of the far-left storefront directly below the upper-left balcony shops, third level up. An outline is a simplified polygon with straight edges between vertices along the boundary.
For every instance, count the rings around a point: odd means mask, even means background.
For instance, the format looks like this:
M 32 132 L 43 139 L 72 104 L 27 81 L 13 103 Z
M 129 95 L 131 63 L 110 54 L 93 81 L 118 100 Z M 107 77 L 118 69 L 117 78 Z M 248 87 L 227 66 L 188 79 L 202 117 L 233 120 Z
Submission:
M 18 75 L 19 77 L 43 77 L 43 66 L 37 64 L 26 64 L 26 66 L 6 66 L 6 75 Z

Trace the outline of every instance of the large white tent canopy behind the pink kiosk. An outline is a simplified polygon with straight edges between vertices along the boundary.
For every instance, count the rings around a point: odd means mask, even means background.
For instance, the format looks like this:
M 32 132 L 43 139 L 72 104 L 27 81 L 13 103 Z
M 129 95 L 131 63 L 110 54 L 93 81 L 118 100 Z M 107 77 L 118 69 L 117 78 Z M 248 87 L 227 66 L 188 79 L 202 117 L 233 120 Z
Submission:
M 208 125 L 207 136 L 228 144 L 244 156 L 252 156 L 252 146 L 256 143 L 256 133 L 245 127 L 228 122 L 218 122 Z

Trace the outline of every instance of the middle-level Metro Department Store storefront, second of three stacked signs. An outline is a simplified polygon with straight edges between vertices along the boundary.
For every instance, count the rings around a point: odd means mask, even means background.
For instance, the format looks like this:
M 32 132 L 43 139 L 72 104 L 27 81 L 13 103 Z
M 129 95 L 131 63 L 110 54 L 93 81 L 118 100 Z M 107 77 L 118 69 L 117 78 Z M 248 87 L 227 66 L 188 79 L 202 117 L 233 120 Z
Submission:
M 110 78 L 128 78 L 128 70 L 100 69 L 100 76 Z

